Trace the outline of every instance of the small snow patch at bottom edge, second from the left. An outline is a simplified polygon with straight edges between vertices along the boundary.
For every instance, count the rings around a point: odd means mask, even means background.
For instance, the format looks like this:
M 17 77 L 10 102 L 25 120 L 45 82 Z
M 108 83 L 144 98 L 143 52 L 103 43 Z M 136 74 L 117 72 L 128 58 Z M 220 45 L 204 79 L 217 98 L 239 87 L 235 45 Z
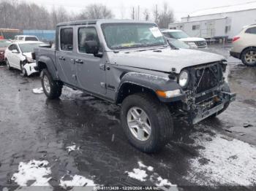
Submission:
M 61 177 L 60 184 L 59 184 L 64 189 L 66 189 L 67 187 L 96 186 L 96 184 L 94 184 L 92 180 L 86 179 L 86 177 L 84 176 L 75 175 L 75 176 L 70 176 L 71 180 L 64 180 L 65 176 Z

